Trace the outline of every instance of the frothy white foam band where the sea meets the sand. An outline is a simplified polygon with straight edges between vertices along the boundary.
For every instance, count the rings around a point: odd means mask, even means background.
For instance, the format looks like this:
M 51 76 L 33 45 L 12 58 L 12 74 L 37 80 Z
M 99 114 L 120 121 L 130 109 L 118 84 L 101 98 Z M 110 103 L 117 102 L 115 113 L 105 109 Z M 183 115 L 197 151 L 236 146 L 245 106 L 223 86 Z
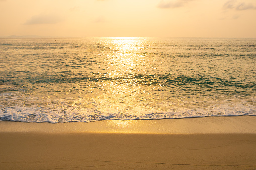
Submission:
M 0 110 L 0 121 L 58 123 L 256 115 L 256 107 L 245 100 L 236 101 L 235 103 L 228 101 L 224 104 L 215 103 L 207 107 L 196 107 L 193 104 L 188 106 L 188 101 L 183 101 L 179 105 L 174 105 L 172 102 L 161 102 L 148 108 L 141 103 L 134 104 L 131 107 L 126 103 L 113 104 L 108 100 L 99 100 L 97 102 L 80 99 L 80 102 L 83 106 L 90 105 L 90 107 L 80 107 L 79 102 L 76 103 L 76 106 L 70 107 L 56 107 L 54 104 L 45 107 L 39 107 L 38 105 L 5 107 Z M 65 102 L 60 103 L 58 106 L 61 105 L 65 105 Z

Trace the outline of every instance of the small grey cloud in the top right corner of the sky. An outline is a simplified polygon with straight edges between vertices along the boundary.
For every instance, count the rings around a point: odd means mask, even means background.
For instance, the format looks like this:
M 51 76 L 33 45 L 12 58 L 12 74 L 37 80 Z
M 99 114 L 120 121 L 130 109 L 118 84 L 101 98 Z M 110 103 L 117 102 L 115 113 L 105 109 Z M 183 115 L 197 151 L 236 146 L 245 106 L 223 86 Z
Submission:
M 236 3 L 236 0 L 229 0 L 223 5 L 223 9 L 225 10 L 230 10 L 230 9 L 235 9 L 238 11 L 242 10 L 249 10 L 249 9 L 256 9 L 256 7 L 251 4 L 251 3 Z

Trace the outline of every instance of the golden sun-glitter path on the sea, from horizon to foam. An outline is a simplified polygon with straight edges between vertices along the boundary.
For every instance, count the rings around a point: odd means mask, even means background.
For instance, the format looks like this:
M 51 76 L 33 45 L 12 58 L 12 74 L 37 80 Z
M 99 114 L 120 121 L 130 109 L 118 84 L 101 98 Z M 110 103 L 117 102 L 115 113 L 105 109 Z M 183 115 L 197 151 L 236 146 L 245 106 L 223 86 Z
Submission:
M 92 83 L 89 87 L 91 92 L 75 99 L 73 106 L 92 109 L 96 106 L 102 114 L 118 113 L 131 116 L 143 112 L 144 109 L 150 109 L 144 104 L 145 95 L 148 95 L 145 91 L 150 87 L 141 85 L 143 80 L 138 75 L 138 70 L 143 70 L 141 67 L 145 65 L 139 51 L 147 39 L 125 37 L 101 40 L 111 49 L 107 55 L 102 56 L 105 58 L 107 69 L 96 73 L 104 77 L 104 80 Z

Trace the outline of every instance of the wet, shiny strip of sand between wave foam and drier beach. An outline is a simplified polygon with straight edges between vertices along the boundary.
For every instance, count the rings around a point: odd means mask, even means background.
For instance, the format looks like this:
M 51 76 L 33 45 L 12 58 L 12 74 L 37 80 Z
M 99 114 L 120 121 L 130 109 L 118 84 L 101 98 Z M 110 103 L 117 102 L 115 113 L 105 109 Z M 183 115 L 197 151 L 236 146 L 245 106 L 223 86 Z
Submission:
M 101 120 L 95 122 L 0 121 L 0 133 L 144 133 L 144 134 L 256 134 L 256 116 L 210 116 L 160 120 Z

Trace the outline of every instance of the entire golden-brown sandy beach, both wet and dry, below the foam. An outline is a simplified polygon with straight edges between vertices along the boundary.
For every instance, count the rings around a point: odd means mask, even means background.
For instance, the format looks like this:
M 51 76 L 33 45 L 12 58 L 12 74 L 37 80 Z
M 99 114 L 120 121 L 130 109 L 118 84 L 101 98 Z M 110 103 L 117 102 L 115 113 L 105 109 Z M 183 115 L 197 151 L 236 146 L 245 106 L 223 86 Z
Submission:
M 0 122 L 0 169 L 256 169 L 256 116 Z

